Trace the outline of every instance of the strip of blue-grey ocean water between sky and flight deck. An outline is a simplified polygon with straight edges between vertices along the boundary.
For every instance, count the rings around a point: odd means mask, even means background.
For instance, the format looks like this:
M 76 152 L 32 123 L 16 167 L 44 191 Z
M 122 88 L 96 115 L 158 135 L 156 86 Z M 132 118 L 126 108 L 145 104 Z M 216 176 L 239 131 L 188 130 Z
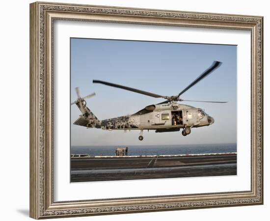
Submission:
M 114 156 L 117 147 L 126 146 L 71 146 L 71 154 L 89 154 L 90 156 Z M 147 145 L 128 146 L 129 156 L 177 155 L 202 153 L 237 152 L 236 143 L 192 144 L 192 145 Z

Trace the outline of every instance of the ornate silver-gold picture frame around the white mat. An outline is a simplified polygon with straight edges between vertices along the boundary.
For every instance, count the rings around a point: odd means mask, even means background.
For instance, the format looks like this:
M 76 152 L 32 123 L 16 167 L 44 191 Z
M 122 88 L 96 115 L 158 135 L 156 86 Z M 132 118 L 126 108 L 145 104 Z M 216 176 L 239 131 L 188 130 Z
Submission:
M 249 30 L 250 190 L 125 198 L 54 199 L 54 22 Z M 67 73 L 68 75 L 68 73 Z M 243 79 L 244 81 L 244 79 Z M 69 148 L 69 147 L 67 147 Z M 76 184 L 75 184 L 76 185 Z M 30 4 L 30 217 L 34 219 L 263 204 L 263 17 L 34 2 Z

